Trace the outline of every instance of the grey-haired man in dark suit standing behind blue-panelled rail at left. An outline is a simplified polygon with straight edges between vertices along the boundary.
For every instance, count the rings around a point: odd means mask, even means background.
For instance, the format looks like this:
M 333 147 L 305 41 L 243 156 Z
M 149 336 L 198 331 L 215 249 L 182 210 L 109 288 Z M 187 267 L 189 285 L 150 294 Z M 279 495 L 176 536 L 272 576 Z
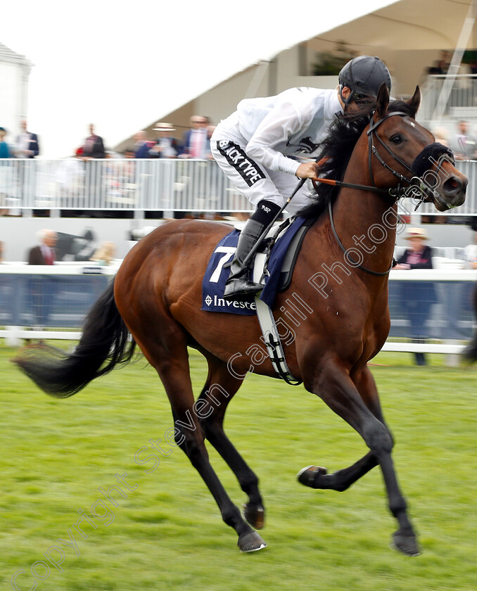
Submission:
M 58 236 L 53 230 L 39 233 L 40 244 L 28 251 L 28 265 L 54 265 L 56 261 L 56 241 Z M 30 298 L 34 324 L 40 328 L 46 326 L 51 314 L 56 294 L 56 283 L 51 275 L 32 275 L 29 281 Z

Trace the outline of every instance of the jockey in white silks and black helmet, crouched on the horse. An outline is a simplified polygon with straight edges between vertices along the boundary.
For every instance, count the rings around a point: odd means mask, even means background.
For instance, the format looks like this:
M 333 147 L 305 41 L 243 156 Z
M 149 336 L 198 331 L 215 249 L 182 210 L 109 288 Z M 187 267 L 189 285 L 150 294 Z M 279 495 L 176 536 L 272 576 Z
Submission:
M 215 128 L 212 155 L 227 177 L 250 203 L 253 215 L 241 231 L 224 297 L 257 293 L 263 286 L 250 281 L 250 265 L 243 261 L 262 232 L 296 187 L 296 178 L 317 177 L 317 163 L 300 164 L 294 158 L 312 158 L 337 115 L 357 111 L 376 99 L 383 82 L 391 78 L 376 57 L 349 61 L 338 75 L 337 89 L 292 88 L 267 98 L 246 98 Z M 289 215 L 310 204 L 306 185 L 287 206 Z

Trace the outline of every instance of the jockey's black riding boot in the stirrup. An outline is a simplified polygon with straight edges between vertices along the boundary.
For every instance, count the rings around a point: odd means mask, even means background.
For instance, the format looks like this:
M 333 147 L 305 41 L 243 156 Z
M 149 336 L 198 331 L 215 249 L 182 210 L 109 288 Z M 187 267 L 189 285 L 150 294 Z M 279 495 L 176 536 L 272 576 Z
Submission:
M 250 269 L 253 267 L 253 258 L 244 265 L 250 250 L 255 243 L 262 239 L 263 231 L 272 222 L 279 212 L 279 206 L 270 201 L 260 201 L 257 211 L 247 220 L 245 227 L 239 236 L 239 243 L 234 260 L 230 265 L 230 276 L 225 284 L 224 298 L 234 298 L 236 295 L 248 295 L 257 293 L 263 286 L 250 281 Z

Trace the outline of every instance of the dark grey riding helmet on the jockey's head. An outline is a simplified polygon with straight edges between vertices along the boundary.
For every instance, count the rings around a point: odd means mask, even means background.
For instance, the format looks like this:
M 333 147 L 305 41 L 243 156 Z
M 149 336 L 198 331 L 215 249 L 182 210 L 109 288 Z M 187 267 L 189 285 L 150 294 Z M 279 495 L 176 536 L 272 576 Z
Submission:
M 391 76 L 386 65 L 376 57 L 359 56 L 350 60 L 338 75 L 340 96 L 345 104 L 352 100 L 359 103 L 369 96 L 376 97 L 379 87 L 386 82 L 391 91 Z M 344 98 L 343 87 L 351 89 L 350 96 Z

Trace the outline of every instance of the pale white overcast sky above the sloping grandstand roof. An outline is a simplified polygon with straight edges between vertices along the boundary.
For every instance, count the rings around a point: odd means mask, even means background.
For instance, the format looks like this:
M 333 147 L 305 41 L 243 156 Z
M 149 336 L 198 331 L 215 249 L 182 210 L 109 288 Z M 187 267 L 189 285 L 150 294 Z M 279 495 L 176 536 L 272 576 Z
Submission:
M 70 155 L 83 143 L 90 122 L 106 146 L 114 146 L 248 65 L 391 3 L 4 0 L 1 4 L 0 42 L 34 64 L 28 127 L 39 134 L 42 155 L 56 158 Z

